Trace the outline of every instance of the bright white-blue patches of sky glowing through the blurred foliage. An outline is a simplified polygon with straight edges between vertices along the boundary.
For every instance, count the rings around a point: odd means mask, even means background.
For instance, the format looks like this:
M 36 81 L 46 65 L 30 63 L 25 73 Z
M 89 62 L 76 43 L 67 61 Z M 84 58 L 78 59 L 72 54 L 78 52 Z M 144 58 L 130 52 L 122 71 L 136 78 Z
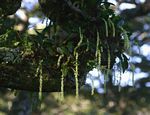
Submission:
M 131 9 L 131 8 L 136 7 L 134 4 L 130 4 L 130 3 L 122 3 L 121 5 L 119 5 L 119 7 L 117 7 L 118 4 L 115 0 L 108 0 L 108 1 L 113 3 L 114 5 L 116 5 L 116 9 L 115 9 L 116 14 L 119 14 L 119 12 L 122 10 Z M 136 3 L 144 3 L 144 2 L 145 2 L 145 0 L 136 0 Z M 31 11 L 37 4 L 38 4 L 38 0 L 23 0 L 21 6 L 22 6 L 22 8 L 27 9 L 27 11 Z M 16 15 L 21 20 L 27 20 L 27 15 L 26 15 L 26 12 L 24 9 L 19 9 L 16 12 Z M 35 28 L 43 29 L 50 22 L 48 18 L 46 18 L 46 17 L 39 18 L 36 15 L 29 17 L 28 21 L 30 23 L 28 26 L 28 32 L 30 34 L 34 34 Z M 19 25 L 17 28 L 21 29 L 21 27 Z M 150 29 L 150 26 L 147 23 L 145 23 L 143 25 L 143 28 L 145 29 L 145 31 L 147 31 Z M 145 36 L 150 36 L 150 34 L 146 33 L 146 32 L 143 32 L 142 34 L 139 32 L 135 32 L 135 33 L 132 33 L 130 39 L 133 39 L 137 35 L 138 35 L 139 40 L 143 39 L 143 37 L 145 37 Z M 132 50 L 134 52 L 139 53 L 140 55 L 143 55 L 145 58 L 150 60 L 150 44 L 144 44 L 140 47 L 133 46 Z M 131 67 L 131 66 L 134 66 L 134 63 L 141 63 L 142 62 L 141 57 L 139 57 L 139 56 L 132 57 L 128 54 L 126 54 L 126 55 L 129 57 L 129 60 L 130 60 L 129 70 L 131 70 L 131 68 L 132 68 L 132 71 L 127 70 L 124 73 L 120 73 L 120 71 L 115 71 L 115 73 L 113 74 L 114 75 L 113 76 L 114 84 L 119 85 L 121 87 L 134 86 L 135 85 L 134 83 L 137 80 L 139 80 L 141 78 L 146 78 L 149 76 L 149 73 L 142 72 L 140 68 Z M 116 62 L 119 62 L 119 59 L 116 59 Z M 104 89 L 102 88 L 102 85 L 104 84 L 104 75 L 101 72 L 99 72 L 96 68 L 93 68 L 93 70 L 90 71 L 89 74 L 87 75 L 86 84 L 89 84 L 92 87 L 94 86 L 99 93 L 103 93 Z M 150 87 L 150 83 L 147 83 L 146 86 Z M 138 85 L 136 87 L 138 87 Z

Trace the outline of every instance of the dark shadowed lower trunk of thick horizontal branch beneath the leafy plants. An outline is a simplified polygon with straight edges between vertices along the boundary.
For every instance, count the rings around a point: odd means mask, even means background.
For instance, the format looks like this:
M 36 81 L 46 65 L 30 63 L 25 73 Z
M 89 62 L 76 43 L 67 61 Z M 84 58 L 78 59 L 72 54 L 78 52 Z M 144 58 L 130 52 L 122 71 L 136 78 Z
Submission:
M 22 65 L 0 65 L 0 87 L 17 90 L 39 91 L 39 77 L 29 67 Z M 65 92 L 74 90 L 69 83 L 65 83 Z M 60 92 L 60 78 L 51 78 L 43 74 L 42 92 Z

